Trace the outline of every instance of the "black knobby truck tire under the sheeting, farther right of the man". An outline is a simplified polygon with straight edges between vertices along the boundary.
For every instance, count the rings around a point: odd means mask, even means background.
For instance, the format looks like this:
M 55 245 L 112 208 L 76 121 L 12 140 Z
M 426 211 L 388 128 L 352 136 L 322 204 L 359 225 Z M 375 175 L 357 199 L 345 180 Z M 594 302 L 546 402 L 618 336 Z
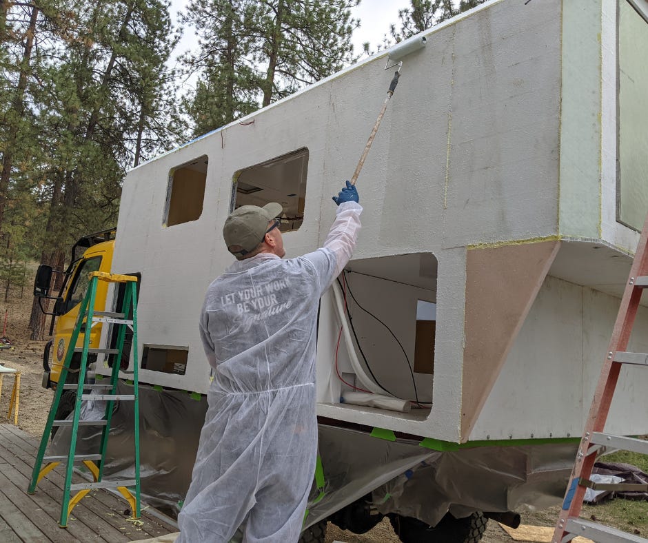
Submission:
M 476 543 L 481 540 L 488 523 L 480 511 L 465 518 L 454 518 L 446 513 L 436 526 L 401 515 L 389 515 L 389 521 L 403 543 Z

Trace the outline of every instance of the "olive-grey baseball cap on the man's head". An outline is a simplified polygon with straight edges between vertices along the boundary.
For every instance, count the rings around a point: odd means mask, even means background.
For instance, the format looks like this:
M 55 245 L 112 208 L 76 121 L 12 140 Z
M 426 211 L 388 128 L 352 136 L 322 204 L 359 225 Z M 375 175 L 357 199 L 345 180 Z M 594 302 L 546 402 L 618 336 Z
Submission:
M 237 258 L 256 249 L 263 241 L 267 223 L 283 213 L 281 204 L 271 202 L 263 207 L 241 205 L 227 217 L 223 226 L 223 238 L 227 250 Z

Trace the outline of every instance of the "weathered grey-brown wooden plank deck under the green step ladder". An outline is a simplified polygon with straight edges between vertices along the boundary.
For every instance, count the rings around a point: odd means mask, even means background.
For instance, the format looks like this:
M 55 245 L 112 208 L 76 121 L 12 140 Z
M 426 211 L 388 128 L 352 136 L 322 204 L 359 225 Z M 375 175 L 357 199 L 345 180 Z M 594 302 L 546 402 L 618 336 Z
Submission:
M 72 510 L 68 528 L 59 528 L 64 469 L 57 467 L 41 480 L 36 493 L 27 493 L 38 446 L 37 438 L 12 424 L 0 424 L 1 542 L 118 543 L 177 531 L 146 510 L 143 525 L 136 526 L 128 521 L 128 503 L 104 490 L 85 496 Z M 74 480 L 83 482 L 79 475 Z

